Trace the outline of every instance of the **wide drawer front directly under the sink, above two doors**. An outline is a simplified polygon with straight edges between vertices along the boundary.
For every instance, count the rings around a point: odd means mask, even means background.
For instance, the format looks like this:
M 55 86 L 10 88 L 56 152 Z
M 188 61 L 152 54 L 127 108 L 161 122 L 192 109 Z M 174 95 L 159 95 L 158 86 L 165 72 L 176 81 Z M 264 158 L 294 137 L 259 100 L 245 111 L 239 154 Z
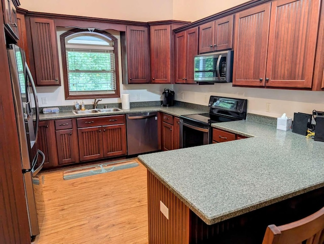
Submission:
M 77 118 L 77 128 L 125 124 L 125 115 Z

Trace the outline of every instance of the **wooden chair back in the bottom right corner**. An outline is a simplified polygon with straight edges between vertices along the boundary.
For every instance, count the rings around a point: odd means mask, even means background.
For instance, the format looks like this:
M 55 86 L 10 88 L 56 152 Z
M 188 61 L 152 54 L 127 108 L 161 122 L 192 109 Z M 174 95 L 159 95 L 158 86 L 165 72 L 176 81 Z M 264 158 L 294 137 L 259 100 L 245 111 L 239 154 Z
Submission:
M 262 244 L 323 244 L 323 229 L 324 208 L 290 224 L 269 225 Z

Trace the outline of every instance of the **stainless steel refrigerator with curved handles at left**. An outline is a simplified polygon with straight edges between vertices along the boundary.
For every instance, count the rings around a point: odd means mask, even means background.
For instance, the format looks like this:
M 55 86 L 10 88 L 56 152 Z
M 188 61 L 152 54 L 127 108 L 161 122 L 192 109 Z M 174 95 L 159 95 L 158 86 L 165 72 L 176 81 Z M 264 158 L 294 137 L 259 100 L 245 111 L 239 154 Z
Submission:
M 14 95 L 30 236 L 39 234 L 32 177 L 43 167 L 45 155 L 37 149 L 38 101 L 34 81 L 26 63 L 25 52 L 16 45 L 8 48 L 11 84 Z M 8 101 L 10 102 L 10 101 Z

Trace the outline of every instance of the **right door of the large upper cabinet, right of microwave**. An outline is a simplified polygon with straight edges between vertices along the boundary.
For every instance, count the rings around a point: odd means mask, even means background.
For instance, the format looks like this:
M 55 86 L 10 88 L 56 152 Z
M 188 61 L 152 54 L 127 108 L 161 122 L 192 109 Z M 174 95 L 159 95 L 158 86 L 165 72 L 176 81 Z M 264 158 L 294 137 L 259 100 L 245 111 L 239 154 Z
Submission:
M 319 8 L 319 0 L 272 2 L 267 87 L 312 87 Z

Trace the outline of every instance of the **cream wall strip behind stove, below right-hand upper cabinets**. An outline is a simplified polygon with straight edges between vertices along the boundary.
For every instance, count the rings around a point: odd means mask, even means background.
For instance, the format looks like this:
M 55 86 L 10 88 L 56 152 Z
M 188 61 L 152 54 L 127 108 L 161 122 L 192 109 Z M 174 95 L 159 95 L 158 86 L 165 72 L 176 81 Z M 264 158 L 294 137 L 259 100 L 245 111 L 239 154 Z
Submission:
M 270 117 L 294 117 L 294 112 L 312 113 L 312 110 L 324 111 L 324 92 L 295 91 L 282 89 L 240 88 L 232 84 L 215 85 L 174 85 L 176 100 L 208 105 L 209 97 L 223 96 L 248 99 L 248 112 Z M 183 99 L 181 99 L 183 93 Z M 266 112 L 266 103 L 270 103 L 270 112 Z

